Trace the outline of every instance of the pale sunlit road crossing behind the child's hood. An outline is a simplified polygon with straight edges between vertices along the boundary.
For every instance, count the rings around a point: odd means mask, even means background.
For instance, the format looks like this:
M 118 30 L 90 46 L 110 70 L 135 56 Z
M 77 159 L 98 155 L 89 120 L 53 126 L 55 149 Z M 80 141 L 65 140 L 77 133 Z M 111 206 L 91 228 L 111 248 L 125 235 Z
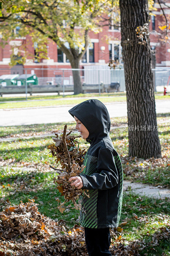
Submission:
M 105 103 L 110 117 L 127 116 L 126 102 Z M 68 113 L 72 106 L 0 110 L 0 126 L 48 124 L 73 121 Z M 170 100 L 156 100 L 156 112 L 170 112 Z

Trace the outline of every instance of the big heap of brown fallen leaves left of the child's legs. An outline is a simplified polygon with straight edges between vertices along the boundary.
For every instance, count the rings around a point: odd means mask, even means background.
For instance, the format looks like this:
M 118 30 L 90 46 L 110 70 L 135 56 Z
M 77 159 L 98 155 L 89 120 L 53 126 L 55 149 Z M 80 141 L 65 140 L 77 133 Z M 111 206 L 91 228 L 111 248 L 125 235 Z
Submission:
M 0 256 L 87 255 L 83 229 L 66 227 L 38 212 L 34 200 L 8 206 L 0 212 Z

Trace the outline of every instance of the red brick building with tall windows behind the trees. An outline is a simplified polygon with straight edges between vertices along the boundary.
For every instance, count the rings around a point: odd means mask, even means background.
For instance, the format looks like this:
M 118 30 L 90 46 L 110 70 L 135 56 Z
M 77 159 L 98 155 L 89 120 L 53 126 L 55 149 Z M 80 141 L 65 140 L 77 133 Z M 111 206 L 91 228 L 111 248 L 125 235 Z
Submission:
M 167 2 L 167 6 L 163 6 L 166 15 L 170 14 L 170 0 Z M 155 7 L 157 8 L 157 11 L 153 11 L 153 14 L 156 14 L 156 16 L 152 16 L 149 27 L 151 32 L 151 48 L 155 49 L 156 51 L 156 66 L 170 67 L 170 44 L 160 40 L 162 38 L 160 35 L 162 31 L 160 30 L 159 26 L 165 25 L 165 21 L 163 19 L 162 10 L 160 9 L 159 4 L 155 3 Z M 121 31 L 119 27 L 114 27 L 113 25 L 107 26 L 104 27 L 103 31 L 99 34 L 90 32 L 89 36 L 91 38 L 91 45 L 89 45 L 87 48 L 87 51 L 80 63 L 80 68 L 85 68 L 89 65 L 101 65 L 108 63 L 110 58 L 115 60 L 118 59 L 120 63 L 122 62 Z M 108 42 L 106 38 L 109 38 Z M 1 70 L 0 75 L 2 75 L 2 73 L 16 73 L 13 71 L 15 67 L 9 67 L 11 45 L 20 46 L 23 43 L 26 45 L 27 51 L 32 55 L 32 57 L 26 60 L 24 66 L 18 66 L 18 72 L 20 74 L 24 73 L 24 68 L 71 68 L 70 62 L 67 60 L 66 55 L 51 40 L 49 40 L 47 45 L 48 59 L 42 59 L 41 62 L 33 60 L 35 50 L 31 37 L 27 36 L 23 38 L 18 37 L 11 41 L 9 40 L 8 44 L 5 45 L 4 48 L 0 47 L 0 68 L 6 69 L 6 71 Z M 65 45 L 68 46 L 67 43 Z M 22 54 L 22 50 L 20 50 L 20 52 Z M 14 54 L 17 56 L 17 48 L 14 51 Z M 31 70 L 28 71 L 28 73 L 30 72 Z M 53 71 L 50 70 L 37 70 L 36 75 L 39 77 L 48 77 L 52 76 L 51 72 L 53 73 Z

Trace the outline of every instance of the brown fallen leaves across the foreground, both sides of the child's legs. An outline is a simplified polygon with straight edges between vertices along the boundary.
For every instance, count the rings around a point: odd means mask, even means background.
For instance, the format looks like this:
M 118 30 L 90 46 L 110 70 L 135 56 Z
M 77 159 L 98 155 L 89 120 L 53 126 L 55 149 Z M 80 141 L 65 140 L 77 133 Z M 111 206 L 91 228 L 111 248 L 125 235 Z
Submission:
M 161 218 L 159 216 L 159 218 Z M 126 221 L 125 221 L 126 220 Z M 120 225 L 129 223 L 128 218 Z M 144 218 L 141 221 L 145 221 Z M 159 228 L 145 239 L 128 241 L 122 236 L 123 228 L 110 230 L 112 255 L 140 255 L 140 251 L 170 235 L 169 224 Z M 146 236 L 145 236 L 146 238 Z M 9 205 L 0 212 L 0 256 L 86 256 L 84 228 L 75 225 L 69 228 L 64 220 L 55 222 L 38 211 L 34 200 L 19 205 Z M 146 254 L 147 255 L 147 254 Z

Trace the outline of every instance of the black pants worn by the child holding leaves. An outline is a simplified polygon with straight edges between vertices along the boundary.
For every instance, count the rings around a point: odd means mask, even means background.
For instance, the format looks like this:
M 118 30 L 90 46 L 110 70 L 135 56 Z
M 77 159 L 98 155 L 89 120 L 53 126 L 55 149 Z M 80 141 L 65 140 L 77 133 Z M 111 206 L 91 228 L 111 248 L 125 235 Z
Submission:
M 111 256 L 110 242 L 110 228 L 85 228 L 85 243 L 89 256 Z

